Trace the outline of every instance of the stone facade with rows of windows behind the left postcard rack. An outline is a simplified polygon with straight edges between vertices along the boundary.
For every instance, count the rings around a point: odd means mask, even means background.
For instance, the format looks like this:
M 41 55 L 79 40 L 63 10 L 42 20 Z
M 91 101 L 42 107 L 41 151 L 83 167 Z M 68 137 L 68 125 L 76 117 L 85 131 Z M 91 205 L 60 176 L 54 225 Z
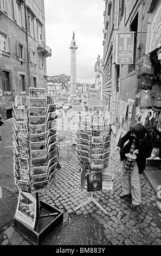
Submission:
M 47 84 L 44 0 L 0 0 L 0 115 L 11 117 L 15 96 Z

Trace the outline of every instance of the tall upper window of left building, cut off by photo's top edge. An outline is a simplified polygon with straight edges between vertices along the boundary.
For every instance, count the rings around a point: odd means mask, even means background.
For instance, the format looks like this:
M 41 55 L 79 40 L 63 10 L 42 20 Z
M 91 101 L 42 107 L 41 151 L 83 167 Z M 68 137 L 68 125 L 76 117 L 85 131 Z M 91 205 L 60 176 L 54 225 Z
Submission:
M 1 0 L 0 0 L 1 1 Z M 14 4 L 14 18 L 18 25 L 25 28 L 25 14 L 24 6 L 21 1 L 13 0 Z

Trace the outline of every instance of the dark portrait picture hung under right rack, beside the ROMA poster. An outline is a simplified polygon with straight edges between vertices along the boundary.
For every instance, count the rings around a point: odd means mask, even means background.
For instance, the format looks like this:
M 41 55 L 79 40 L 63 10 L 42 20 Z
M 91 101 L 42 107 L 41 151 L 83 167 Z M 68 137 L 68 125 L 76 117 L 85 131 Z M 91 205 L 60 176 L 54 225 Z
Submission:
M 92 172 L 87 174 L 87 191 L 98 191 L 102 189 L 102 173 Z

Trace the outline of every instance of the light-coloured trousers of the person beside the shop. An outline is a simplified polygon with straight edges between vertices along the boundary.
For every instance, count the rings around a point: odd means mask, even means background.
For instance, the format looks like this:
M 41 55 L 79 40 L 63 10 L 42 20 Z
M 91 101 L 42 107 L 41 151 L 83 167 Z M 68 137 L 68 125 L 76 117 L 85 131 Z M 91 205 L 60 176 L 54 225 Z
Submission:
M 132 172 L 124 172 L 125 164 L 127 158 L 123 160 L 123 172 L 122 172 L 122 190 L 123 194 L 130 194 L 132 196 L 132 204 L 141 204 L 141 188 L 140 188 L 140 178 L 139 169 L 137 162 L 134 164 Z

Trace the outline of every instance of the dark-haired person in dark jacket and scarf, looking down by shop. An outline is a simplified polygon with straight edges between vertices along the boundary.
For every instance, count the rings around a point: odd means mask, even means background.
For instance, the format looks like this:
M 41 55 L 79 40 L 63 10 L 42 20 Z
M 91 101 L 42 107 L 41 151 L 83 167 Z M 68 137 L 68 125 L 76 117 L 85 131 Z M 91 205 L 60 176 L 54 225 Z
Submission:
M 151 156 L 152 149 L 153 141 L 142 124 L 134 124 L 115 148 L 120 151 L 120 160 L 123 161 L 123 192 L 120 198 L 132 196 L 131 209 L 141 204 L 139 174 L 145 170 L 146 159 Z

